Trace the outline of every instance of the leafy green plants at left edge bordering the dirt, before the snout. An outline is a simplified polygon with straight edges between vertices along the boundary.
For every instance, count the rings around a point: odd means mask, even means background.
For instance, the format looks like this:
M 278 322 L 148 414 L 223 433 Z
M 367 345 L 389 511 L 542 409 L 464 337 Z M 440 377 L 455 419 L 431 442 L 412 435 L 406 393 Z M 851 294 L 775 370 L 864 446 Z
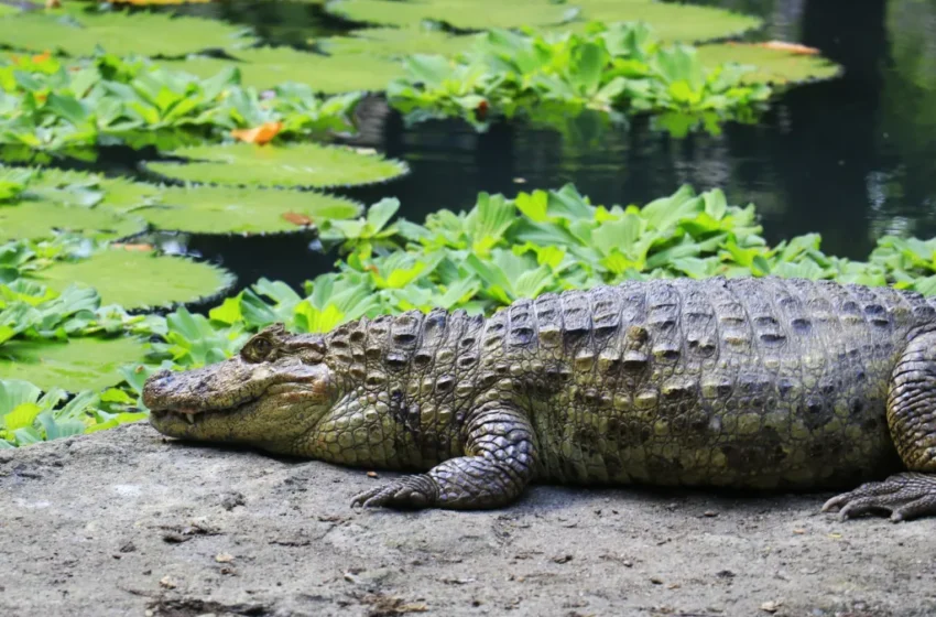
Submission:
M 28 381 L 0 379 L 0 448 L 90 433 L 146 416 L 122 410 L 124 398 L 117 390 L 102 394 L 84 390 L 62 404 L 67 394 L 59 388 L 43 393 Z

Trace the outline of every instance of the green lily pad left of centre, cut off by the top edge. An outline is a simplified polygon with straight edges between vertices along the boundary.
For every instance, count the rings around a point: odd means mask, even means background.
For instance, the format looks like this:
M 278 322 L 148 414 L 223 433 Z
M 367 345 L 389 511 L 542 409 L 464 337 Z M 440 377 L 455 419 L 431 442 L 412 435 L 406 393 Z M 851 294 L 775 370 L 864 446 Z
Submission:
M 360 23 L 410 26 L 431 20 L 465 30 L 558 25 L 575 12 L 547 0 L 335 0 L 325 10 Z

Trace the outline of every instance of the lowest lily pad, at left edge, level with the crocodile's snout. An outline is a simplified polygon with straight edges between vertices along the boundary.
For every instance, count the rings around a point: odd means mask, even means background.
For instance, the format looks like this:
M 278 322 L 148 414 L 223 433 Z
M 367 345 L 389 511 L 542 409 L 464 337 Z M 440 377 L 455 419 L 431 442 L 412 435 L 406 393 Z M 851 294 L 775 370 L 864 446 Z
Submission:
M 0 345 L 0 379 L 23 379 L 43 390 L 101 390 L 122 381 L 118 369 L 144 355 L 143 343 L 132 337 L 8 340 Z

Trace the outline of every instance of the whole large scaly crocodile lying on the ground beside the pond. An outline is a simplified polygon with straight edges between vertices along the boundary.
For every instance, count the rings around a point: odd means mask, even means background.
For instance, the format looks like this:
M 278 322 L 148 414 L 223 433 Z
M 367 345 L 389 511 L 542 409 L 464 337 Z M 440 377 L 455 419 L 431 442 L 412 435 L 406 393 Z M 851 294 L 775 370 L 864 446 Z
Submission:
M 410 472 L 352 507 L 498 508 L 536 481 L 852 488 L 823 511 L 936 513 L 936 300 L 889 286 L 630 281 L 489 317 L 274 324 L 152 375 L 143 402 L 172 437 Z

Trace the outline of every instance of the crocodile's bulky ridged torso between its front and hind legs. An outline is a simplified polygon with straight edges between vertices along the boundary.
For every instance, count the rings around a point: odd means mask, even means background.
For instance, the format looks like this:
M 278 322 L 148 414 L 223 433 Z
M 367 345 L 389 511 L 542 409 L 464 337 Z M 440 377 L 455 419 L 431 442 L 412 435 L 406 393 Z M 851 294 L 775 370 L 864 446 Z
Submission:
M 529 410 L 552 481 L 847 485 L 896 464 L 888 382 L 934 314 L 828 281 L 628 282 L 500 311 L 479 372 Z

